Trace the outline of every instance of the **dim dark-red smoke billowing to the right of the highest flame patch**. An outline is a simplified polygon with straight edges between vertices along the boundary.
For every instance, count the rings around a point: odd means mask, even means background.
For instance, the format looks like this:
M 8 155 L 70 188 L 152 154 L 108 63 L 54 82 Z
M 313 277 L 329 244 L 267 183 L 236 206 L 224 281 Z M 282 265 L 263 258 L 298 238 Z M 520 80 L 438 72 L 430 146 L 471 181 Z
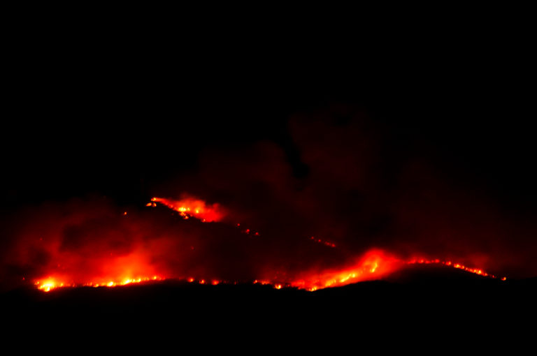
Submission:
M 335 260 L 310 265 L 344 264 L 380 248 L 510 276 L 537 273 L 531 215 L 503 204 L 471 172 L 439 161 L 431 146 L 403 142 L 392 127 L 348 107 L 292 117 L 288 132 L 306 175 L 295 174 L 281 144 L 255 142 L 204 151 L 196 172 L 155 194 L 188 190 L 221 202 L 234 222 L 264 232 L 289 260 L 303 258 L 308 237 L 338 246 Z

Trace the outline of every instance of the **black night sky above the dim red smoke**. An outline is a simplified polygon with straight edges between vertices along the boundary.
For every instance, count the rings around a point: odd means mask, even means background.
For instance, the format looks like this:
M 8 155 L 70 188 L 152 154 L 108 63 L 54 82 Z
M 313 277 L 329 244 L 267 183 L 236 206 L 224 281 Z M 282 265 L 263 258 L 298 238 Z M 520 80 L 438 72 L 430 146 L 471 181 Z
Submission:
M 431 35 L 380 52 L 62 35 L 27 34 L 4 67 L 3 205 L 92 191 L 136 201 L 205 147 L 264 139 L 306 174 L 287 121 L 330 105 L 382 124 L 391 149 L 505 198 L 536 197 L 535 73 L 523 40 Z

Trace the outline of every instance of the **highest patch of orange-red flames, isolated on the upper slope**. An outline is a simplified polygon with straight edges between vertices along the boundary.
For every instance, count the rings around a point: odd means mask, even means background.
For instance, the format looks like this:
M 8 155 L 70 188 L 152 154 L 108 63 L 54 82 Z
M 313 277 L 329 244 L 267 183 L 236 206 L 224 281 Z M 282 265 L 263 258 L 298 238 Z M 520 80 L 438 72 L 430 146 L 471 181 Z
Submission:
M 170 209 L 175 210 L 182 216 L 187 219 L 191 216 L 199 218 L 203 222 L 213 222 L 220 221 L 224 216 L 220 205 L 213 204 L 207 205 L 206 202 L 200 199 L 187 198 L 182 200 L 171 200 L 166 198 L 152 198 L 152 203 L 149 203 L 148 206 L 155 207 L 155 203 L 160 203 Z

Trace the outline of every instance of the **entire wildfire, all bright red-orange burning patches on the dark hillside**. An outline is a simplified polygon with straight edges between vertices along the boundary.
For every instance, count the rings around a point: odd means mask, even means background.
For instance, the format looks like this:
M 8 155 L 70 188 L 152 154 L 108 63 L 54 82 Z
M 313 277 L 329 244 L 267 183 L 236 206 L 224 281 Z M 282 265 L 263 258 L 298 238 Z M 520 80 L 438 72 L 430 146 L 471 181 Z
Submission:
M 158 204 L 162 204 L 169 209 L 173 209 L 178 212 L 183 218 L 196 218 L 203 222 L 216 222 L 221 221 L 224 213 L 219 205 L 208 205 L 203 200 L 194 198 L 187 198 L 183 200 L 169 200 L 165 198 L 152 198 L 148 206 L 155 207 Z M 123 212 L 123 215 L 127 215 L 127 212 Z M 240 223 L 236 223 L 236 227 L 241 229 L 241 232 L 246 235 L 259 236 L 259 232 L 252 232 L 250 229 L 241 228 Z M 329 248 L 335 248 L 336 244 L 327 242 L 317 237 L 310 237 L 313 242 L 323 244 Z M 41 239 L 40 239 L 41 241 Z M 190 250 L 194 250 L 194 246 L 189 247 Z M 72 261 L 71 261 L 72 262 Z M 77 262 L 78 263 L 78 262 Z M 75 268 L 77 263 L 71 263 L 68 265 L 67 270 L 58 272 L 58 274 L 51 273 L 48 277 L 37 279 L 34 281 L 36 288 L 43 292 L 49 292 L 57 288 L 66 287 L 116 287 L 119 285 L 129 285 L 131 283 L 143 283 L 149 281 L 163 281 L 164 279 L 176 279 L 183 280 L 189 283 L 210 284 L 219 285 L 220 283 L 239 283 L 238 281 L 222 281 L 219 279 L 211 279 L 208 276 L 205 278 L 190 277 L 178 277 L 167 274 L 162 270 L 155 268 L 150 258 L 144 254 L 143 250 L 135 251 L 129 255 L 113 256 L 110 253 L 110 257 L 103 260 L 99 264 L 101 269 L 99 272 L 95 272 L 96 276 L 93 277 L 91 271 L 80 271 L 80 274 L 76 274 L 75 271 L 69 271 Z M 466 267 L 461 263 L 455 263 L 451 260 L 440 259 L 425 259 L 418 258 L 412 260 L 403 260 L 396 257 L 387 251 L 379 249 L 372 249 L 364 253 L 361 258 L 355 260 L 354 263 L 347 265 L 339 269 L 310 269 L 294 276 L 285 277 L 274 276 L 273 278 L 264 278 L 253 281 L 254 284 L 272 285 L 275 289 L 282 288 L 299 288 L 303 290 L 315 291 L 322 288 L 331 288 L 341 285 L 348 285 L 350 283 L 357 283 L 360 281 L 370 281 L 375 279 L 382 279 L 388 274 L 395 272 L 398 269 L 404 268 L 406 265 L 444 265 L 456 269 L 464 270 L 465 272 L 478 274 L 479 276 L 496 279 L 494 274 L 489 274 L 483 269 Z M 63 268 L 62 264 L 57 264 L 58 269 Z M 71 272 L 71 274 L 69 274 Z M 92 276 L 88 278 L 88 276 Z M 199 276 L 203 277 L 203 276 Z M 506 280 L 506 277 L 501 278 L 502 281 Z M 244 281 L 241 281 L 244 283 Z

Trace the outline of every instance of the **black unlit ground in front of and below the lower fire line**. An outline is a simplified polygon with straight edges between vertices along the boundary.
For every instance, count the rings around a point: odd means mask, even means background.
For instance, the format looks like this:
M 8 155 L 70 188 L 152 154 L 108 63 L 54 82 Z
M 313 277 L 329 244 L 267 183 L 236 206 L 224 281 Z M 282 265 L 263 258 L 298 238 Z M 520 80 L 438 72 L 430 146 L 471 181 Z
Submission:
M 500 342 L 535 331 L 537 279 L 499 281 L 458 270 L 416 267 L 387 281 L 316 292 L 268 285 L 179 281 L 115 288 L 3 293 L 3 325 L 16 337 L 54 345 L 177 343 L 416 343 L 440 337 Z M 171 339 L 170 339 L 171 338 Z M 350 338 L 350 339 L 349 339 Z M 453 339 L 455 338 L 455 339 Z M 312 342 L 314 342 L 312 344 Z

